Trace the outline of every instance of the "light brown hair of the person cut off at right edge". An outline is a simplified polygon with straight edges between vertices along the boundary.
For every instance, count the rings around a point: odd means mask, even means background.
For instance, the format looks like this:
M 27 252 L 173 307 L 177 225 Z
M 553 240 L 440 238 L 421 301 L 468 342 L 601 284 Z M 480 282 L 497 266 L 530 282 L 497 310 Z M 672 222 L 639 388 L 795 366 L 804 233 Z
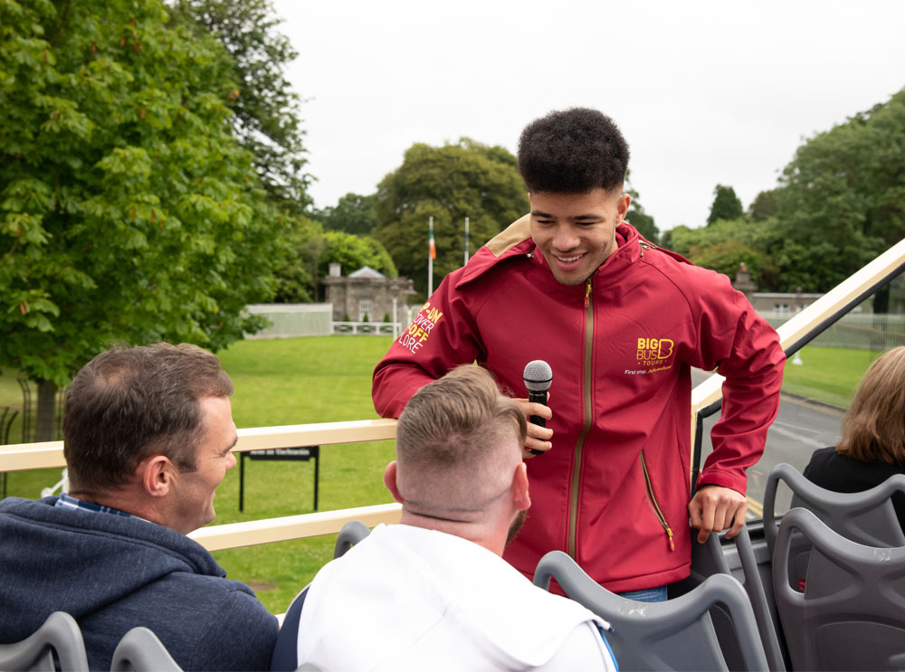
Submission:
M 836 450 L 862 462 L 905 467 L 905 345 L 881 355 L 864 374 Z

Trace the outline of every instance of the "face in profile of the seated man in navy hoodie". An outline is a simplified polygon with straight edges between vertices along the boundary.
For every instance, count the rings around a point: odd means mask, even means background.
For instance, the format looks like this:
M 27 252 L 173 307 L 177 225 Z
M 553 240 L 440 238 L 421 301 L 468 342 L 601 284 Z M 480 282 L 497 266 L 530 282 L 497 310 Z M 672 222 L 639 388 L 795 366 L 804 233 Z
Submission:
M 202 440 L 195 453 L 195 471 L 180 471 L 176 477 L 175 517 L 167 524 L 188 534 L 214 520 L 214 494 L 226 472 L 235 467 L 233 447 L 237 440 L 233 412 L 227 397 L 198 400 Z

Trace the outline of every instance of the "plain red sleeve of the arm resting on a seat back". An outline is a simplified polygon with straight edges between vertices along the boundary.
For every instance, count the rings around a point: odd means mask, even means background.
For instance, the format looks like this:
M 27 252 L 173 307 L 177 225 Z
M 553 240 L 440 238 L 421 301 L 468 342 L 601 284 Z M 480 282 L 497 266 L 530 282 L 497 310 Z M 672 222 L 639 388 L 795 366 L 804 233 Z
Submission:
M 743 294 L 720 283 L 703 299 L 700 365 L 726 377 L 719 421 L 710 432 L 713 452 L 698 485 L 731 487 L 746 493 L 746 470 L 764 452 L 767 429 L 779 410 L 786 355 L 776 330 L 757 315 Z M 729 293 L 729 296 L 727 296 Z M 708 305 L 710 304 L 710 305 Z

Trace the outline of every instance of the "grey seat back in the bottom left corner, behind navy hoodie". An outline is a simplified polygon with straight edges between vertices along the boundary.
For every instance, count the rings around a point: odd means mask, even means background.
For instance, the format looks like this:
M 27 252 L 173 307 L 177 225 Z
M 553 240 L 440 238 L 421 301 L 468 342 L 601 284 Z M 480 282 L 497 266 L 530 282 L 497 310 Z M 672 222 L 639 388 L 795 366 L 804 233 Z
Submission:
M 54 656 L 59 659 L 62 672 L 88 672 L 81 629 L 64 611 L 54 611 L 30 637 L 13 644 L 0 644 L 0 669 L 54 672 Z

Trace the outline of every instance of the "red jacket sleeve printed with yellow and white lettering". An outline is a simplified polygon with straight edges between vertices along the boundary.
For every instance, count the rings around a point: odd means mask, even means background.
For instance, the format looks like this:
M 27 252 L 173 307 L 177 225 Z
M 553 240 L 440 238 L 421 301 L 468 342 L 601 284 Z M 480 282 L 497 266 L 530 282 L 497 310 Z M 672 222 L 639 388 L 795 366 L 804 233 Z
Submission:
M 371 398 L 383 418 L 398 418 L 422 385 L 458 364 L 472 364 L 482 346 L 467 301 L 455 289 L 459 273 L 443 279 L 412 323 L 376 365 Z

